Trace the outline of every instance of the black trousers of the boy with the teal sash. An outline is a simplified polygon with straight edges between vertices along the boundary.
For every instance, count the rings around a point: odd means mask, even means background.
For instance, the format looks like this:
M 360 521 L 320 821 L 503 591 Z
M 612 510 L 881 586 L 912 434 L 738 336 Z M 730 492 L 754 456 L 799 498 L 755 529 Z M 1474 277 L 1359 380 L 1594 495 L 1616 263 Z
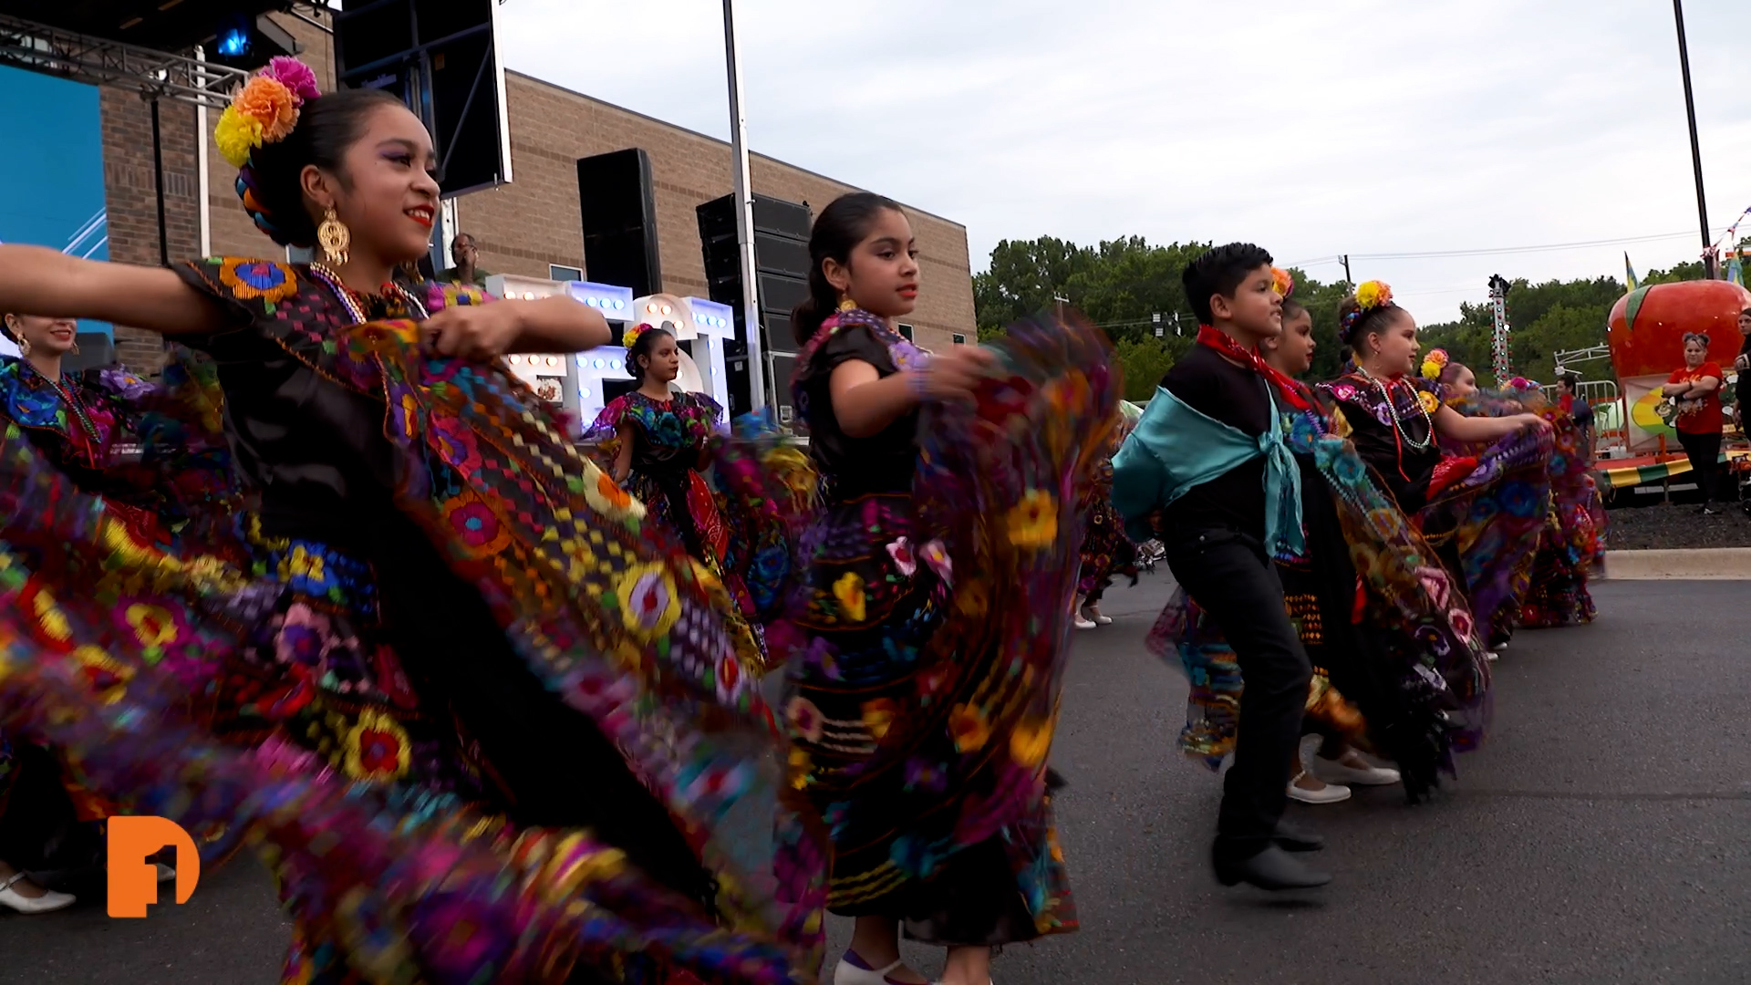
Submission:
M 1168 545 L 1168 568 L 1222 629 L 1247 682 L 1215 854 L 1250 859 L 1269 847 L 1289 799 L 1313 668 L 1283 608 L 1276 566 L 1257 540 L 1224 529 L 1191 533 Z

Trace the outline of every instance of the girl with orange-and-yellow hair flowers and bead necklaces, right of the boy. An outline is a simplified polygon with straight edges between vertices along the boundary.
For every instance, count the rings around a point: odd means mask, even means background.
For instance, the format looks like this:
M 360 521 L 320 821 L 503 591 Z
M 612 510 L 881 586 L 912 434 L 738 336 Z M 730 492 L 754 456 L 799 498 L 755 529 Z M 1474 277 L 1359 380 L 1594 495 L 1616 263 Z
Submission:
M 1380 280 L 1343 301 L 1340 330 L 1355 361 L 1319 387 L 1336 401 L 1338 435 L 1354 438 L 1373 478 L 1462 578 L 1480 634 L 1504 640 L 1497 613 L 1513 612 L 1523 587 L 1515 573 L 1550 507 L 1550 424 L 1536 414 L 1464 417 L 1446 407 L 1415 365 L 1417 321 Z M 1467 454 L 1445 452 L 1443 440 Z

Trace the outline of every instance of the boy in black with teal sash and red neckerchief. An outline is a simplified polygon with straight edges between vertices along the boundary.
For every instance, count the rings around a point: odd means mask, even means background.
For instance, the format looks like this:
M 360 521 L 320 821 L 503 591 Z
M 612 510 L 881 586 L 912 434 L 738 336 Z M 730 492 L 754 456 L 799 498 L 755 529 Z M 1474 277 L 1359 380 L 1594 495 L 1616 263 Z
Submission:
M 1285 850 L 1282 827 L 1311 666 L 1283 608 L 1278 547 L 1301 547 L 1301 482 L 1257 345 L 1282 333 L 1271 254 L 1229 244 L 1194 259 L 1185 298 L 1201 328 L 1114 457 L 1114 507 L 1133 540 L 1159 536 L 1173 577 L 1217 622 L 1245 677 L 1234 762 L 1212 852 L 1222 885 L 1311 889 L 1331 876 Z M 1152 529 L 1154 526 L 1159 529 Z

